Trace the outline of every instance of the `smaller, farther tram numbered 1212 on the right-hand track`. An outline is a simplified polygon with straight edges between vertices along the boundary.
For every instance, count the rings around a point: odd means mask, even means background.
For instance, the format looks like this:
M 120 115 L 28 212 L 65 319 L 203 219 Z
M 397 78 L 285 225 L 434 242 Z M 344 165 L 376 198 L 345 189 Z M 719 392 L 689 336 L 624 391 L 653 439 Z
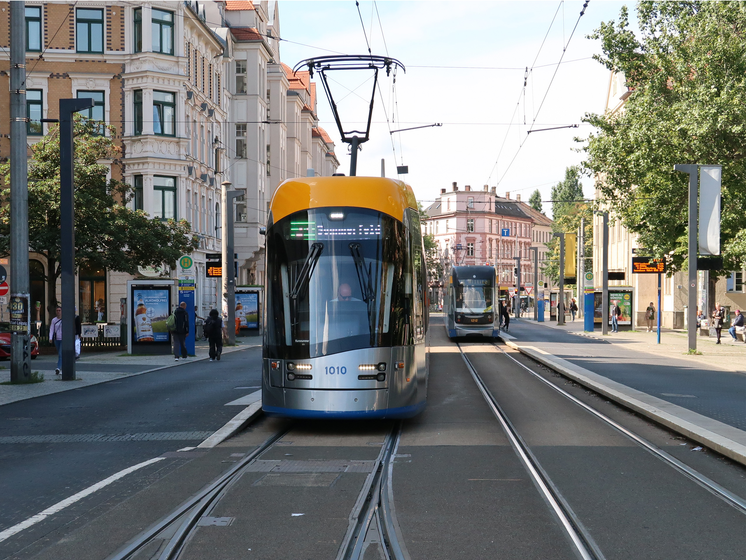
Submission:
M 448 273 L 445 329 L 451 338 L 500 335 L 493 267 L 452 267 Z

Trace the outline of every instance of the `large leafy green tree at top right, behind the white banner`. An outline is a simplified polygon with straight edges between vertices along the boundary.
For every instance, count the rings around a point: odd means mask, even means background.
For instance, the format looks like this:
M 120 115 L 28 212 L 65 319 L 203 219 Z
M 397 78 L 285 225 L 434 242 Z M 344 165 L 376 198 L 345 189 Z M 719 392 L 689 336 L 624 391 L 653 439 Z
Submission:
M 587 114 L 585 169 L 639 243 L 671 270 L 687 267 L 688 175 L 674 164 L 721 164 L 725 270 L 746 266 L 746 4 L 643 1 L 639 34 L 627 8 L 603 22 L 596 59 L 623 72 L 624 109 Z M 638 39 L 639 37 L 639 39 Z M 721 271 L 723 273 L 723 271 Z

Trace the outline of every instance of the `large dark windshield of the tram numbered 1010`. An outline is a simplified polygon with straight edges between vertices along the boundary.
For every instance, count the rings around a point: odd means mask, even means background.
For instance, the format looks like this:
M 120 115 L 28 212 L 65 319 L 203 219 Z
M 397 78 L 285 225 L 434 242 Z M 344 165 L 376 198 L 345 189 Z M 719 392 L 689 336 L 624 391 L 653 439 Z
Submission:
M 270 357 L 392 344 L 407 307 L 392 294 L 412 292 L 401 222 L 363 208 L 298 212 L 272 225 L 267 255 Z

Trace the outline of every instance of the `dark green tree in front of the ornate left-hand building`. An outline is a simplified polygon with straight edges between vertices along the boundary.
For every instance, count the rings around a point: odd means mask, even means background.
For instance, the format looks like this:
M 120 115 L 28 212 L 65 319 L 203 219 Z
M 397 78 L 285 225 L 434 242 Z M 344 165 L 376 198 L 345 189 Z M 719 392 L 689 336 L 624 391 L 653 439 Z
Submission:
M 101 122 L 75 116 L 75 264 L 135 274 L 137 267 L 175 265 L 179 256 L 198 246 L 186 220 L 151 218 L 126 204 L 133 188 L 110 179 L 101 160 L 116 160 L 121 149 L 114 145 L 116 129 L 100 136 Z M 28 246 L 47 261 L 48 310 L 57 305 L 55 286 L 60 276 L 60 140 L 51 127 L 31 146 L 28 166 Z M 0 254 L 10 252 L 10 164 L 0 165 L 4 190 L 0 196 Z

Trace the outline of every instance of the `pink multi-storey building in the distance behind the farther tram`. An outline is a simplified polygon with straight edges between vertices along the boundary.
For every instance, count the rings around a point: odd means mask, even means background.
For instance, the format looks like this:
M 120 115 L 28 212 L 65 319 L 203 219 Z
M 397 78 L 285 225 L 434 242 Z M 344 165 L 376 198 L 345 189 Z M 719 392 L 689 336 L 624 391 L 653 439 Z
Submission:
M 426 208 L 425 234 L 433 234 L 445 270 L 450 265 L 492 265 L 501 291 L 515 287 L 516 256 L 521 257 L 521 287 L 533 285 L 532 244 L 534 224 L 530 214 L 521 209 L 520 199 L 510 200 L 489 190 L 440 190 L 440 196 Z M 505 234 L 505 235 L 504 235 Z M 436 287 L 442 279 L 431 279 Z M 501 295 L 504 295 L 501 293 Z

